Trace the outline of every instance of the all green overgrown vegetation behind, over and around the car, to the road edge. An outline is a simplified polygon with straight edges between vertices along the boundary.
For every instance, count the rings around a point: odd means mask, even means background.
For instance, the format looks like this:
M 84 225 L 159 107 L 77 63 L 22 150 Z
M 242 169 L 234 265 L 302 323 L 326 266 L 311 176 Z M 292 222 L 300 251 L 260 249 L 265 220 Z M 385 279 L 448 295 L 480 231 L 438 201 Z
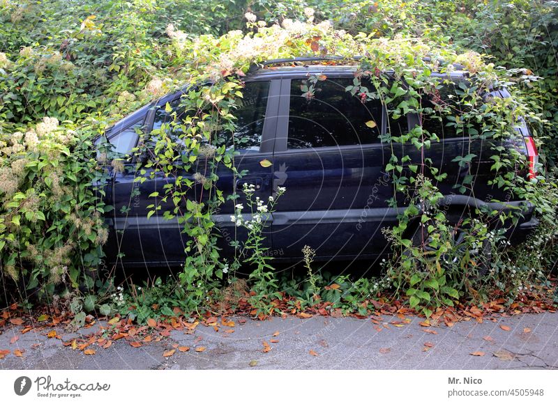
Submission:
M 313 306 L 365 315 L 375 309 L 381 292 L 426 316 L 460 300 L 513 302 L 554 267 L 558 234 L 552 169 L 558 150 L 552 47 L 557 6 L 535 5 L 0 0 L 0 265 L 6 285 L 17 282 L 24 300 L 33 290 L 43 298 L 62 295 L 71 302 L 71 311 L 81 313 L 78 322 L 84 311 L 93 310 L 144 321 L 172 317 L 174 308 L 190 313 L 240 306 L 260 317 Z M 225 148 L 217 134 L 219 128 L 234 131 L 239 90 L 250 66 L 309 54 L 335 54 L 350 63 L 356 63 L 352 56 L 361 55 L 347 91 L 362 102 L 380 98 L 393 106 L 388 111 L 393 119 L 409 111 L 423 118 L 449 116 L 456 131 L 493 144 L 495 185 L 517 199 L 534 201 L 540 230 L 517 250 L 504 249 L 502 235 L 518 217 L 478 211 L 461 224 L 462 239 L 456 244 L 451 212 L 439 205 L 442 194 L 436 184 L 444 172 L 428 159 L 394 153 L 386 164 L 397 194 L 391 203 L 409 207 L 399 225 L 386 230 L 395 254 L 383 277 L 322 274 L 312 262 L 312 246 L 304 251 L 301 270 L 308 277 L 278 276 L 262 231 L 266 215 L 289 190 L 278 190 L 269 201 L 252 199 L 250 189 L 243 195 L 223 194 L 216 187 L 218 166 L 236 176 L 242 173 L 235 171 L 234 150 Z M 453 63 L 462 63 L 472 75 L 469 86 L 452 89 L 459 109 L 439 98 L 447 83 L 431 75 L 448 72 Z M 393 73 L 385 75 L 389 69 Z M 322 79 L 310 78 L 301 95 L 315 96 Z M 178 176 L 165 194 L 150 195 L 148 214 L 179 220 L 189 236 L 188 258 L 174 281 L 158 279 L 116 290 L 110 280 L 95 276 L 107 234 L 103 214 L 112 208 L 103 205 L 103 187 L 97 185 L 108 175 L 108 164 L 122 169 L 122 161 L 110 153 L 100 160 L 93 140 L 123 114 L 167 91 L 208 81 L 211 86 L 199 86 L 183 97 L 186 117 L 145 134 L 134 150 L 150 156 L 133 167 L 138 182 L 158 174 L 173 176 L 177 165 L 195 173 L 195 180 Z M 498 98 L 485 102 L 495 86 L 508 88 L 514 104 Z M 435 107 L 423 105 L 425 99 L 434 100 Z M 498 146 L 502 139 L 519 136 L 514 129 L 518 116 L 529 124 L 550 167 L 536 180 L 523 173 L 522 156 Z M 171 136 L 170 129 L 179 135 Z M 382 141 L 412 143 L 421 150 L 439 141 L 439 134 L 416 127 L 400 136 L 388 133 Z M 210 157 L 204 170 L 197 169 L 201 157 Z M 467 168 L 473 157 L 466 155 L 455 164 Z M 467 191 L 472 178 L 469 173 L 458 192 Z M 200 186 L 204 198 L 191 198 L 192 189 Z M 238 256 L 225 257 L 216 247 L 213 215 L 227 198 L 241 196 L 250 219 L 243 218 L 241 203 L 232 219 L 248 232 L 248 239 L 236 244 Z M 172 201 L 173 208 L 158 212 L 161 201 Z M 421 230 L 418 236 L 409 235 L 417 217 Z M 493 231 L 485 223 L 495 220 L 503 226 Z M 526 249 L 532 253 L 525 254 Z M 490 262 L 472 258 L 472 250 L 490 255 Z M 241 265 L 250 268 L 247 280 L 237 274 Z

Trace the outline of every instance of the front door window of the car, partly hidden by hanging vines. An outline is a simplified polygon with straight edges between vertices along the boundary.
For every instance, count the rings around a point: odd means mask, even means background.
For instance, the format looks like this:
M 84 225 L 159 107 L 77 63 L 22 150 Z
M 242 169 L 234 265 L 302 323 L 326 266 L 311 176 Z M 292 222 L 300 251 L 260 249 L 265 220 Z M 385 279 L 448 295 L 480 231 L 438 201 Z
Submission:
M 225 144 L 227 148 L 231 148 L 234 139 L 235 150 L 244 153 L 259 151 L 259 146 L 262 143 L 269 84 L 269 81 L 250 81 L 246 83 L 241 91 L 243 98 L 239 99 L 240 106 L 233 112 L 237 118 L 235 132 L 218 130 L 213 146 Z M 153 121 L 153 130 L 160 130 L 163 127 L 165 133 L 171 139 L 180 143 L 179 136 L 182 134 L 180 123 L 186 113 L 180 98 L 169 102 L 169 107 L 169 112 L 167 112 L 166 104 L 157 109 Z M 153 142 L 156 142 L 156 140 L 151 139 Z

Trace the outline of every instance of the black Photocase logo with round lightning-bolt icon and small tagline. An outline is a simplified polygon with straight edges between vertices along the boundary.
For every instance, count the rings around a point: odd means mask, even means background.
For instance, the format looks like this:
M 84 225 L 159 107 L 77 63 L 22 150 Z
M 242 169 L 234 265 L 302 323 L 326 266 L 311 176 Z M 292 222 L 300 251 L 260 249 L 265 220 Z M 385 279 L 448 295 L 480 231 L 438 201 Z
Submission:
M 77 398 L 84 391 L 108 391 L 110 384 L 100 382 L 72 382 L 68 378 L 62 382 L 54 381 L 48 376 L 39 376 L 33 382 L 27 376 L 20 376 L 13 383 L 13 391 L 18 396 L 29 393 L 33 384 L 38 397 Z

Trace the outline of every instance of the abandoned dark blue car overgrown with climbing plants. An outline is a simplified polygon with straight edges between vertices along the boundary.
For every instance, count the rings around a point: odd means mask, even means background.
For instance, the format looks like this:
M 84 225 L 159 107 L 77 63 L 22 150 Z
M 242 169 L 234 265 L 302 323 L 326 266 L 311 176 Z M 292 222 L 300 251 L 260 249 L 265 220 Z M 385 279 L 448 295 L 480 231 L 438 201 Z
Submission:
M 398 223 L 397 216 L 405 201 L 400 201 L 400 208 L 389 207 L 389 199 L 398 196 L 394 195 L 392 178 L 385 167 L 392 153 L 409 155 L 409 164 L 413 164 L 421 160 L 421 150 L 410 144 L 382 143 L 381 137 L 387 131 L 392 136 L 405 133 L 418 125 L 419 119 L 417 114 L 407 114 L 393 121 L 387 118 L 386 107 L 379 100 L 363 104 L 345 91 L 352 85 L 355 69 L 350 65 L 280 66 L 261 68 L 246 77 L 243 106 L 236 111 L 241 135 L 236 137 L 242 141 L 235 147 L 240 153 L 235 164 L 239 171 L 247 170 L 248 175 L 235 179 L 230 170 L 223 169 L 218 172 L 218 189 L 232 194 L 248 183 L 255 186 L 255 196 L 267 200 L 274 189 L 287 188 L 267 228 L 267 247 L 278 251 L 276 258 L 299 260 L 305 245 L 315 249 L 317 260 L 378 258 L 390 253 L 381 230 Z M 301 86 L 312 75 L 326 75 L 327 79 L 319 82 L 318 92 L 309 102 L 301 96 Z M 451 79 L 456 83 L 464 81 L 467 72 L 453 72 Z M 138 130 L 149 134 L 172 121 L 173 114 L 181 115 L 183 94 L 184 91 L 178 91 L 165 95 L 119 121 L 107 130 L 108 141 L 117 152 L 128 153 L 137 146 Z M 490 95 L 509 96 L 505 90 Z M 171 112 L 166 111 L 167 103 Z M 365 124 L 371 120 L 375 127 Z M 515 242 L 525 238 L 538 223 L 532 216 L 533 206 L 528 201 L 508 201 L 509 196 L 502 189 L 488 185 L 494 178 L 490 169 L 494 162 L 490 160 L 493 152 L 486 141 L 463 137 L 444 121 L 425 120 L 422 125 L 441 139 L 423 151 L 424 157 L 447 174 L 437 186 L 445 196 L 448 217 L 457 221 L 473 207 L 520 208 L 522 218 L 508 235 Z M 534 176 L 538 159 L 534 141 L 525 125 L 518 130 L 525 141 L 520 144 L 504 141 L 504 146 L 525 154 L 530 170 L 525 175 Z M 469 153 L 476 155 L 470 166 L 455 162 L 455 157 Z M 262 166 L 262 160 L 273 164 Z M 163 194 L 163 186 L 172 178 L 158 173 L 142 183 L 135 182 L 139 175 L 133 169 L 135 164 L 135 159 L 130 159 L 126 163 L 128 169 L 114 172 L 107 185 L 107 202 L 114 205 L 107 216 L 111 229 L 105 246 L 107 263 L 134 266 L 183 263 L 186 235 L 176 219 L 164 219 L 162 213 L 165 208 L 172 209 L 172 203 L 168 206 L 163 203 L 155 215 L 147 217 L 146 206 L 153 203 L 149 194 Z M 455 185 L 461 184 L 469 171 L 474 173 L 472 192 L 459 192 Z M 229 243 L 239 237 L 230 220 L 233 213 L 234 203 L 227 201 L 215 217 L 223 235 L 220 247 L 225 256 L 234 254 Z

